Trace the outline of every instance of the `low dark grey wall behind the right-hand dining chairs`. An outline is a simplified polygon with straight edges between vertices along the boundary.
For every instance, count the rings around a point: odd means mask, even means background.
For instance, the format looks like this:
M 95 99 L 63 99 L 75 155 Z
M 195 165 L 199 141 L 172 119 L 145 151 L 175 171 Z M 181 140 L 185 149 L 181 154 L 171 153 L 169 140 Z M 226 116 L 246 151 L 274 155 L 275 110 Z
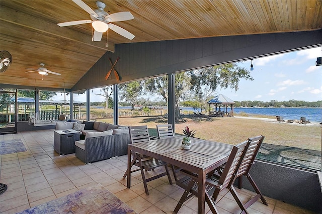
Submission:
M 250 174 L 263 195 L 322 213 L 322 193 L 315 172 L 256 161 Z M 243 188 L 254 191 L 246 177 Z

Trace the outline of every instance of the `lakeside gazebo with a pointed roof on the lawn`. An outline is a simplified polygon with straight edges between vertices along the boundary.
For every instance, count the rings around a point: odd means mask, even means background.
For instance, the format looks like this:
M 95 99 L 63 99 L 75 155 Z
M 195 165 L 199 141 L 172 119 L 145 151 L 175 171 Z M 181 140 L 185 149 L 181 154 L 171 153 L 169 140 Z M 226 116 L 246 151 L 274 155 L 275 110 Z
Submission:
M 215 111 L 213 112 L 213 115 L 218 117 L 218 116 L 233 116 L 233 104 L 235 103 L 234 101 L 232 101 L 230 98 L 226 97 L 223 94 L 218 94 L 217 96 L 215 96 L 214 98 L 210 99 L 208 102 L 208 112 L 209 112 L 209 116 L 210 114 L 210 105 L 214 104 L 215 105 Z M 223 111 L 220 110 L 220 107 L 223 107 Z M 230 112 L 228 113 L 228 105 L 230 105 Z M 217 107 L 218 107 L 218 111 L 217 111 Z

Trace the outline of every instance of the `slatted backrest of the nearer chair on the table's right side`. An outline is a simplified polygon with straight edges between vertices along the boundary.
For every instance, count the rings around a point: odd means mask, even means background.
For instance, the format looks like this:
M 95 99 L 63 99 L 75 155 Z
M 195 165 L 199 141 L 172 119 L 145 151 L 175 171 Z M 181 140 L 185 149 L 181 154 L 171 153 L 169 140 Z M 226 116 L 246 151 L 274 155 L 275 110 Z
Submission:
M 250 143 L 250 141 L 244 141 L 232 148 L 228 161 L 218 181 L 218 184 L 222 185 L 222 188 L 229 188 L 236 179 L 236 173 L 246 155 Z

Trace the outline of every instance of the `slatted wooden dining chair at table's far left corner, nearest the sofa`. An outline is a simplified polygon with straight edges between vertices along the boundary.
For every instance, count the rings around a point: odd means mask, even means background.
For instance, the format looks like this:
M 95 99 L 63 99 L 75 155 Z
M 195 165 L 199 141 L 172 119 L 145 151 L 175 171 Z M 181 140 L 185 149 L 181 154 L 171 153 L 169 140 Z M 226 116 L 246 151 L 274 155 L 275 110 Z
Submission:
M 150 140 L 149 137 L 149 133 L 148 133 L 148 129 L 147 126 L 129 126 L 129 133 L 130 133 L 130 139 L 131 139 L 131 143 L 140 143 L 140 142 L 146 142 Z M 167 167 L 167 163 L 155 158 L 151 158 L 148 156 L 144 156 L 142 154 L 136 153 L 136 152 L 132 152 L 132 161 L 131 161 L 131 168 L 132 166 L 137 166 L 138 168 L 131 170 L 130 173 L 132 172 L 136 172 L 136 171 L 141 171 L 141 175 L 142 175 L 142 180 L 143 180 L 143 185 L 144 185 L 144 189 L 145 189 L 145 193 L 148 195 L 148 189 L 147 189 L 147 182 L 163 177 L 165 175 L 168 176 L 169 179 L 169 183 L 172 184 L 172 180 L 171 180 L 171 176 L 169 173 L 169 169 Z M 146 178 L 145 177 L 145 171 L 151 171 L 154 170 L 156 167 L 160 167 L 160 166 L 164 166 L 166 171 L 163 173 L 159 173 L 157 175 L 154 175 L 152 177 Z M 123 178 L 125 178 L 128 174 L 128 171 L 126 170 Z

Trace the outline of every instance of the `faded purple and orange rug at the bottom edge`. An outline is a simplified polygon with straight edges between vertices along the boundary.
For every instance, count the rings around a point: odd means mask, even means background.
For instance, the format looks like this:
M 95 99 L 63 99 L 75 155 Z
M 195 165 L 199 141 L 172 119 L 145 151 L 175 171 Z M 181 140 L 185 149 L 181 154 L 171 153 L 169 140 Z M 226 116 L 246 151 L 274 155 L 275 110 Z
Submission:
M 102 185 L 88 187 L 18 213 L 136 213 Z

